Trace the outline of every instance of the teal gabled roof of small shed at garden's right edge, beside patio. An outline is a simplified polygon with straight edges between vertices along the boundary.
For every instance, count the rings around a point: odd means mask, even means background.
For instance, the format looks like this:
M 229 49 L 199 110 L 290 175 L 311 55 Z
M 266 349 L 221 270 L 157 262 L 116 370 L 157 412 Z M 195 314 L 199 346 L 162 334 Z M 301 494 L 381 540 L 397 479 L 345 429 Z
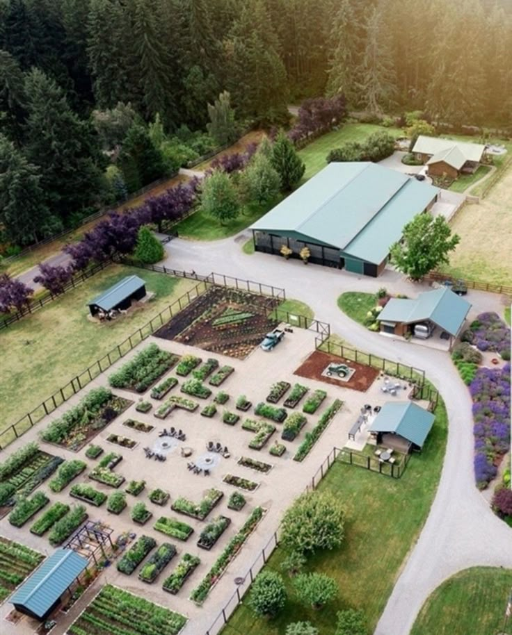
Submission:
M 394 432 L 423 447 L 435 416 L 413 402 L 387 402 L 369 427 L 371 432 Z

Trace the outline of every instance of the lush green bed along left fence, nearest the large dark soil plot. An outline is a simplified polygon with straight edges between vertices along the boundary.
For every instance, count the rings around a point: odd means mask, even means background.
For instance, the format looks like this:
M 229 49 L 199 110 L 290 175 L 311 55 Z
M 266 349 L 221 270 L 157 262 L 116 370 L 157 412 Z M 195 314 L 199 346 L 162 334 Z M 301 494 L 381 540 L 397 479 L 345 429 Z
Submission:
M 173 368 L 179 356 L 150 344 L 109 377 L 112 388 L 143 393 L 164 373 Z

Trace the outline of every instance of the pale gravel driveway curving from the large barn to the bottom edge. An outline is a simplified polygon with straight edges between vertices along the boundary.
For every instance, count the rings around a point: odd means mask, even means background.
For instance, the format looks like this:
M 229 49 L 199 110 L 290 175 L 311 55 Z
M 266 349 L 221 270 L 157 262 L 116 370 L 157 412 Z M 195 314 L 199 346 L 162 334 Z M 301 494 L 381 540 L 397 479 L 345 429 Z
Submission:
M 408 283 L 393 271 L 375 280 L 266 254 L 246 256 L 241 245 L 247 238 L 248 233 L 210 243 L 175 239 L 166 245 L 165 264 L 285 287 L 288 297 L 307 302 L 320 320 L 330 322 L 333 333 L 355 347 L 426 370 L 445 399 L 449 435 L 438 492 L 376 627 L 376 635 L 407 635 L 426 598 L 447 577 L 474 565 L 512 568 L 512 531 L 490 511 L 474 487 L 469 393 L 446 353 L 370 333 L 336 306 L 337 296 L 347 290 L 375 292 L 386 286 L 392 292 L 413 295 L 421 286 Z M 470 292 L 468 299 L 476 313 L 502 311 L 501 300 L 495 295 Z M 400 531 L 399 518 L 389 522 L 395 522 Z

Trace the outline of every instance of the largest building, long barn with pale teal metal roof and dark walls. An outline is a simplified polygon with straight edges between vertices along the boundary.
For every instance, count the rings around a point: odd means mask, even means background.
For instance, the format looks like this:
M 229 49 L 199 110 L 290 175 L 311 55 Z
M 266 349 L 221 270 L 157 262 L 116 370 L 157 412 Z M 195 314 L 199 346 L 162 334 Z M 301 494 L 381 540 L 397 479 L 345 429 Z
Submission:
M 377 277 L 403 226 L 427 211 L 439 190 L 367 162 L 330 163 L 252 226 L 256 251 Z

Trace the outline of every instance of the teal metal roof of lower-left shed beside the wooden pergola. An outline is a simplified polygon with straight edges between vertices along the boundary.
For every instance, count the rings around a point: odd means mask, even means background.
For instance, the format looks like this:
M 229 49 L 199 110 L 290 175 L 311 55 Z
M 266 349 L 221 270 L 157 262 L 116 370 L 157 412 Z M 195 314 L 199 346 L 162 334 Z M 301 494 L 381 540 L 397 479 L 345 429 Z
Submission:
M 10 598 L 42 618 L 87 566 L 87 559 L 71 549 L 58 549 L 36 569 Z

